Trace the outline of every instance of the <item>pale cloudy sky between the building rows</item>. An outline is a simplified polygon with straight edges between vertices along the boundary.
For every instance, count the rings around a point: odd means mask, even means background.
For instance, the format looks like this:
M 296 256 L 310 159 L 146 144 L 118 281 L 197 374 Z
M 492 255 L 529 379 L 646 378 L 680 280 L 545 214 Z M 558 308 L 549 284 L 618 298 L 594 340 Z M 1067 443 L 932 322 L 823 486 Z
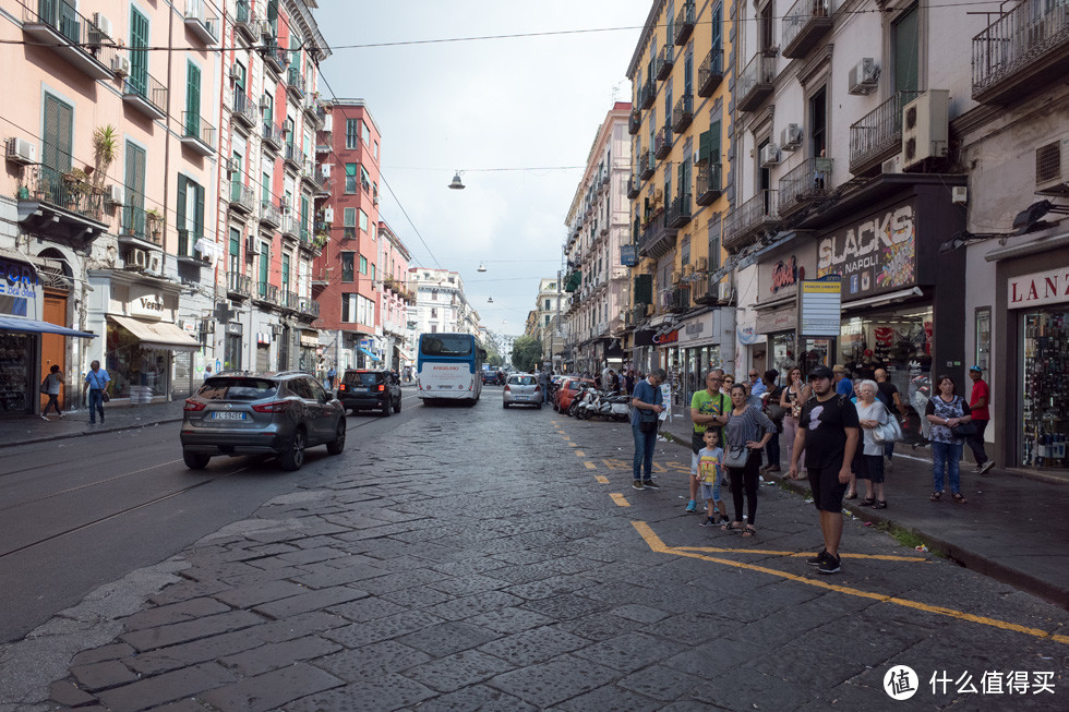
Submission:
M 651 2 L 319 0 L 313 11 L 333 50 L 321 96 L 364 99 L 382 134 L 381 219 L 413 266 L 460 273 L 492 331 L 523 334 L 539 279 L 561 269 L 568 208 L 598 128 L 630 100 L 627 63 Z M 626 29 L 343 48 L 615 27 Z M 457 170 L 467 188 L 448 190 Z

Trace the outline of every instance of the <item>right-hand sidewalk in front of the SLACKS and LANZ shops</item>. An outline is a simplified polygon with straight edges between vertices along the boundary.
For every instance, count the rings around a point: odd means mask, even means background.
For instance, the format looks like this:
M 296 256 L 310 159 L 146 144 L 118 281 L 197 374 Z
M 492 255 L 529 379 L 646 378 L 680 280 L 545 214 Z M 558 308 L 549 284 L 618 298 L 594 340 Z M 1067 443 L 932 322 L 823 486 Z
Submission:
M 689 418 L 675 418 L 661 433 L 689 449 Z M 786 445 L 781 442 L 782 486 L 809 496 L 806 480 L 786 476 Z M 961 492 L 969 504 L 956 504 L 944 495 L 930 502 L 932 460 L 917 450 L 899 446 L 893 467 L 885 478 L 887 509 L 860 506 L 864 497 L 843 502 L 852 516 L 874 524 L 889 524 L 913 532 L 933 552 L 998 581 L 1043 596 L 1069 610 L 1069 486 L 1013 476 L 998 468 L 975 474 L 972 463 L 961 464 Z M 862 485 L 864 487 L 864 485 Z M 844 548 L 850 541 L 843 542 Z

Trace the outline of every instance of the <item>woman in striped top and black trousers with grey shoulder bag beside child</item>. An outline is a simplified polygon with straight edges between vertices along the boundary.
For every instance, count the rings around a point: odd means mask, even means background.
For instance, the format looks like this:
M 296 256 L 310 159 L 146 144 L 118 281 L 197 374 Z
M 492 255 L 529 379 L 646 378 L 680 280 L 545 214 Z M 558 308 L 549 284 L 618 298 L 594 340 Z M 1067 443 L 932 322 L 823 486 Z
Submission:
M 757 480 L 761 467 L 761 449 L 776 434 L 776 425 L 761 412 L 746 402 L 746 385 L 731 387 L 732 410 L 728 415 L 728 456 L 724 467 L 731 483 L 731 497 L 735 505 L 735 521 L 723 524 L 724 531 L 740 531 L 743 536 L 756 536 Z M 760 439 L 757 439 L 760 437 Z M 743 492 L 746 493 L 746 514 L 743 514 Z

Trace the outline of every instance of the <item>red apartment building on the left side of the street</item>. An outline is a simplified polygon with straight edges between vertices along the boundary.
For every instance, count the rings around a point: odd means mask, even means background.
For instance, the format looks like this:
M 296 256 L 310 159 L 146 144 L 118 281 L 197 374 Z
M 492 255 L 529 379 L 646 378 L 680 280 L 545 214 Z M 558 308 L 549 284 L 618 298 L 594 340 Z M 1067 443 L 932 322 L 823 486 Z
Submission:
M 327 102 L 315 150 L 325 190 L 317 219 L 325 244 L 314 263 L 321 342 L 339 370 L 381 366 L 382 287 L 379 274 L 381 134 L 363 99 Z

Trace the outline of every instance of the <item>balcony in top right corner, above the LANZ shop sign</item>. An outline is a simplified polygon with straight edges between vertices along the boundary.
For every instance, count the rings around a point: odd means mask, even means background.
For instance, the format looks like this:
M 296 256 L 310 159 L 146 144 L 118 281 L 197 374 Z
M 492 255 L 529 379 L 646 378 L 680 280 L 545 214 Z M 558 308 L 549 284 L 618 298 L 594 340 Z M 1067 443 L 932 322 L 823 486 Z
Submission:
M 973 98 L 1008 104 L 1069 73 L 1069 5 L 1024 0 L 973 37 Z

